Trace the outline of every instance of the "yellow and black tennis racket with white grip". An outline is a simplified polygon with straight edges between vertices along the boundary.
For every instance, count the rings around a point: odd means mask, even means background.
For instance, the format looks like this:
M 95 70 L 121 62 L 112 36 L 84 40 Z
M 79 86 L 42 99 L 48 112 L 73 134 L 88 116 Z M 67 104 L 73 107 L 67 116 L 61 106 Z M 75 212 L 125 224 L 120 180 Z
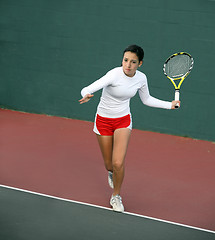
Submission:
M 180 87 L 193 68 L 194 60 L 189 53 L 178 52 L 171 55 L 164 63 L 163 71 L 175 87 L 175 100 L 179 100 Z M 177 104 L 176 108 L 179 107 Z

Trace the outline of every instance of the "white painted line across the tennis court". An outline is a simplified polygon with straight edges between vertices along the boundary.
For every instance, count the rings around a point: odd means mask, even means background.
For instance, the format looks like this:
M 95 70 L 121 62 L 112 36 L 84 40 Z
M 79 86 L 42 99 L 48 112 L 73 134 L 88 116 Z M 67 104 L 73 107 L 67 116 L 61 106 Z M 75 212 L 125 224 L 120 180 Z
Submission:
M 8 188 L 8 189 L 16 190 L 16 191 L 21 191 L 21 192 L 25 192 L 25 193 L 30 193 L 30 194 L 34 194 L 34 195 L 38 195 L 38 196 L 42 196 L 42 197 L 52 198 L 52 199 L 56 199 L 56 200 L 60 200 L 60 201 L 77 203 L 77 204 L 80 204 L 80 205 L 85 205 L 85 206 L 100 208 L 100 209 L 104 209 L 104 210 L 108 210 L 108 211 L 113 211 L 111 208 L 102 207 L 102 206 L 95 205 L 95 204 L 90 204 L 90 203 L 74 201 L 74 200 L 70 200 L 70 199 L 66 199 L 66 198 L 55 197 L 55 196 L 51 196 L 51 195 L 47 195 L 47 194 L 43 194 L 43 193 L 32 192 L 32 191 L 21 189 L 21 188 L 15 188 L 15 187 L 10 187 L 10 186 L 6 186 L 6 185 L 0 185 L 0 187 Z M 168 224 L 172 224 L 172 225 L 177 225 L 177 226 L 181 226 L 181 227 L 185 227 L 185 228 L 191 228 L 191 229 L 195 229 L 195 230 L 199 230 L 199 231 L 204 231 L 204 232 L 215 234 L 215 231 L 212 231 L 212 230 L 207 230 L 207 229 L 203 229 L 203 228 L 193 227 L 193 226 L 189 226 L 189 225 L 186 225 L 186 224 L 171 222 L 171 221 L 167 221 L 167 220 L 163 220 L 163 219 L 159 219 L 159 218 L 144 216 L 144 215 L 131 213 L 131 212 L 124 212 L 123 214 L 136 216 L 136 217 L 141 217 L 141 218 L 146 218 L 146 219 L 150 219 L 150 220 L 154 220 L 154 221 L 158 221 L 158 222 L 168 223 Z

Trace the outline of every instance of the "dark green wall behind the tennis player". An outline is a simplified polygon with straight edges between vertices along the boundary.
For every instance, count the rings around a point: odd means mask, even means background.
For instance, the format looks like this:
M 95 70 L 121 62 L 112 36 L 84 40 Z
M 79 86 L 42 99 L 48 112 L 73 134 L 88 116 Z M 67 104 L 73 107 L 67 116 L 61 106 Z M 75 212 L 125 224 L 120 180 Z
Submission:
M 121 64 L 129 44 L 145 50 L 151 95 L 172 100 L 164 60 L 195 60 L 176 111 L 132 99 L 134 128 L 215 140 L 214 0 L 0 0 L 0 105 L 94 120 L 101 92 L 79 105 L 82 87 Z

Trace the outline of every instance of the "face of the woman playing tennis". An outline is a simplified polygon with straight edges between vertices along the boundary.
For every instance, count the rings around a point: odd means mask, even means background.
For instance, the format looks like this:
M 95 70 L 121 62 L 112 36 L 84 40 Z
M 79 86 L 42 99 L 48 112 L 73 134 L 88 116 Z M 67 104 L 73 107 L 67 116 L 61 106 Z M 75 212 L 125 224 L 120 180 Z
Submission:
M 136 73 L 136 70 L 142 65 L 142 63 L 142 61 L 139 62 L 136 53 L 125 52 L 122 60 L 123 72 L 128 77 L 133 77 Z

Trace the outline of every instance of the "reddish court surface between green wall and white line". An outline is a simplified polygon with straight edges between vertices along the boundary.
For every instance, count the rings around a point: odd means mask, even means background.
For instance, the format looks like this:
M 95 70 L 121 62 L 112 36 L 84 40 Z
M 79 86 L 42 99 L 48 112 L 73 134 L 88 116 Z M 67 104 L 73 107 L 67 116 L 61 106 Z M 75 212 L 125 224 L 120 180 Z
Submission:
M 93 123 L 0 110 L 0 184 L 109 207 Z M 215 144 L 133 130 L 126 211 L 215 230 Z

